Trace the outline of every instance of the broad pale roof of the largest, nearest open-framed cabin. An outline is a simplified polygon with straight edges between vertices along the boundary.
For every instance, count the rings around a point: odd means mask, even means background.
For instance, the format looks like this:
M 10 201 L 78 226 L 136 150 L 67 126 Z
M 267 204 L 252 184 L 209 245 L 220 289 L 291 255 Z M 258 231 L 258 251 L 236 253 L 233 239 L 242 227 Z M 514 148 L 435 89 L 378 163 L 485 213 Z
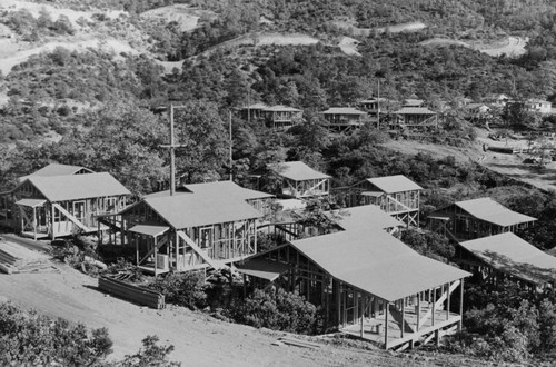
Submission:
M 469 276 L 373 228 L 294 240 L 291 245 L 332 277 L 386 301 Z

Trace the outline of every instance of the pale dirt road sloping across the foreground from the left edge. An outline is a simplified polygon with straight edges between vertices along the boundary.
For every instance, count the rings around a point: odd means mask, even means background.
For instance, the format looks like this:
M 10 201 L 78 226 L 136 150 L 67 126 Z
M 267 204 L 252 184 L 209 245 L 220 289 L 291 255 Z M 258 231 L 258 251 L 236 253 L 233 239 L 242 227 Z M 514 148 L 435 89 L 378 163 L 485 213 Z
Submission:
M 0 296 L 24 308 L 107 327 L 115 343 L 111 358 L 137 351 L 141 339 L 157 335 L 173 345 L 172 360 L 185 366 L 401 366 L 408 356 L 322 344 L 319 350 L 272 346 L 280 333 L 215 320 L 201 313 L 169 306 L 142 308 L 99 292 L 97 279 L 59 265 L 59 274 L 0 274 Z M 427 363 L 411 360 L 413 365 Z

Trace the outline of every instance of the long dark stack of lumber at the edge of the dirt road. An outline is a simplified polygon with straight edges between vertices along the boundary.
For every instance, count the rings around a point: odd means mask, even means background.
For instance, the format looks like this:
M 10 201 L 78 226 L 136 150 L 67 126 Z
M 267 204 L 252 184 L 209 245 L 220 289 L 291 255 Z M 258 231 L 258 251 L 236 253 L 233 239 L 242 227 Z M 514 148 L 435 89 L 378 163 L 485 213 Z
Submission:
M 122 280 L 100 277 L 99 289 L 141 306 L 156 309 L 165 308 L 165 296 L 158 291 L 138 287 Z

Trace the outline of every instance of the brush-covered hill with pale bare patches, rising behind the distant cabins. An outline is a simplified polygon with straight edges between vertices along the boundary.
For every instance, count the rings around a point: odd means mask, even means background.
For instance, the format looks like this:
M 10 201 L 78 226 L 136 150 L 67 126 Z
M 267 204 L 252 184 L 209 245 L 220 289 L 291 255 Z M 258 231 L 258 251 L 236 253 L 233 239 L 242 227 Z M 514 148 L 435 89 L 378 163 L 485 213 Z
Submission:
M 0 137 L 63 135 L 76 115 L 122 98 L 319 110 L 369 97 L 379 80 L 388 98 L 431 103 L 514 86 L 546 98 L 555 14 L 546 0 L 6 0 Z

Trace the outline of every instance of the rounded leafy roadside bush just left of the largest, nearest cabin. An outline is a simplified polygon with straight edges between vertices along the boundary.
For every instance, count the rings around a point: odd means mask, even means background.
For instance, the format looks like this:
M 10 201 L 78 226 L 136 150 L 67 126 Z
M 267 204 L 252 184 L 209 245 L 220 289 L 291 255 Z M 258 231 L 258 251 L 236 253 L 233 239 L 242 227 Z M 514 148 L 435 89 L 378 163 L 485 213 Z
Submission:
M 276 291 L 256 289 L 245 301 L 232 304 L 229 311 L 237 323 L 257 328 L 297 334 L 315 334 L 317 329 L 315 305 L 281 288 Z

